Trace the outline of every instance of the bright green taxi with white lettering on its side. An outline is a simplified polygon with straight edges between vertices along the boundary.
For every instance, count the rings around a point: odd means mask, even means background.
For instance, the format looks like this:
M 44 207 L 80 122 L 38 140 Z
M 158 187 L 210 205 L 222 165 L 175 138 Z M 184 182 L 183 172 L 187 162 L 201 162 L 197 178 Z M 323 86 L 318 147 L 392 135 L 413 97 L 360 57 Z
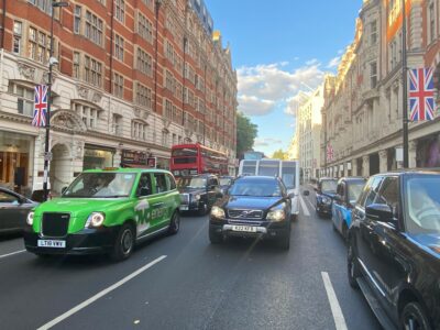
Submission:
M 82 172 L 63 195 L 30 212 L 24 245 L 36 255 L 108 253 L 128 258 L 136 243 L 179 230 L 180 197 L 162 169 Z

